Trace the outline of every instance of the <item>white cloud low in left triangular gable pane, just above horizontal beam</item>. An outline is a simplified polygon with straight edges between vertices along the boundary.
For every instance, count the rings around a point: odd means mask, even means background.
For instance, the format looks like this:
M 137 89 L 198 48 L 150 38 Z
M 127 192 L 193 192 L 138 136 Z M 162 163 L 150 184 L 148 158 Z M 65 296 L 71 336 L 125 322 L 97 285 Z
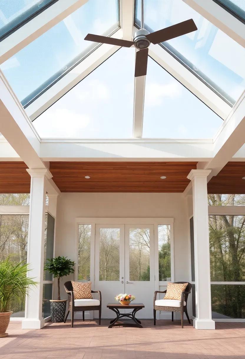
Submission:
M 33 125 L 40 137 L 83 137 L 82 130 L 91 122 L 87 115 L 68 109 L 48 109 Z

